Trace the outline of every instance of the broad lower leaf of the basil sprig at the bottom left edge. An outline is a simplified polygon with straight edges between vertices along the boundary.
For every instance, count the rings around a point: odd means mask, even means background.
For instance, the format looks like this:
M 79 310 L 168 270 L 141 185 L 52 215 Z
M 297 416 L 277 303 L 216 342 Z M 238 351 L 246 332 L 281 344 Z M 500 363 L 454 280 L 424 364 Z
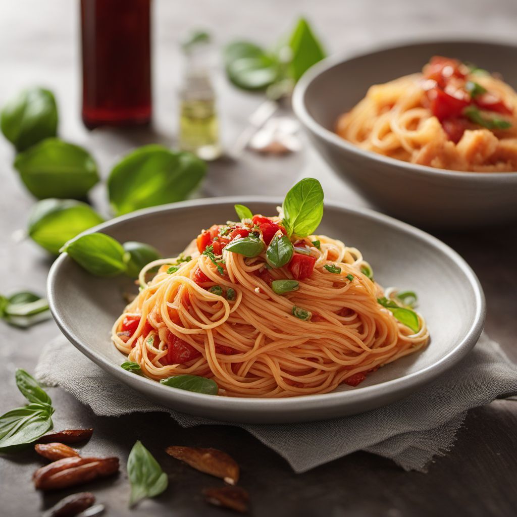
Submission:
M 51 406 L 29 404 L 0 416 L 0 452 L 11 452 L 35 442 L 52 429 L 53 412 Z

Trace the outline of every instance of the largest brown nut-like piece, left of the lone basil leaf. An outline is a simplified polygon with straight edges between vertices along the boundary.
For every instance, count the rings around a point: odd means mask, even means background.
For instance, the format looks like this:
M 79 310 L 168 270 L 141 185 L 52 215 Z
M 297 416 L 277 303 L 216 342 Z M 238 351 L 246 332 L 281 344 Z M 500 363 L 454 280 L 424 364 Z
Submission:
M 34 486 L 40 490 L 55 490 L 92 479 L 115 474 L 118 458 L 63 458 L 39 468 L 33 474 Z

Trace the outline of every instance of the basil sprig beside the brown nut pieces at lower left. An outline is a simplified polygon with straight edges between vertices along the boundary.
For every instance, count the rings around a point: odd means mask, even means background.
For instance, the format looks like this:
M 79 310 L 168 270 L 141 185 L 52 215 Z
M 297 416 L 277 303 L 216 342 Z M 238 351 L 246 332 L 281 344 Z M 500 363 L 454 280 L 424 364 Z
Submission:
M 53 425 L 52 401 L 36 379 L 17 370 L 16 384 L 29 404 L 0 416 L 0 452 L 12 452 L 35 442 Z

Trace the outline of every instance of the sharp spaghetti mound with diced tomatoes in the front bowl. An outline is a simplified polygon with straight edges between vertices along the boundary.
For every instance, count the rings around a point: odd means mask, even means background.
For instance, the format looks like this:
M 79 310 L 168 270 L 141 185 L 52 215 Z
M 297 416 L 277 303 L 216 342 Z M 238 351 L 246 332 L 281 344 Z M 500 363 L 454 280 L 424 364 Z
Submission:
M 113 326 L 116 347 L 151 379 L 208 377 L 231 397 L 326 393 L 429 340 L 422 317 L 400 307 L 414 328 L 401 323 L 359 250 L 339 240 L 288 237 L 278 217 L 254 216 L 196 244 L 148 264 Z

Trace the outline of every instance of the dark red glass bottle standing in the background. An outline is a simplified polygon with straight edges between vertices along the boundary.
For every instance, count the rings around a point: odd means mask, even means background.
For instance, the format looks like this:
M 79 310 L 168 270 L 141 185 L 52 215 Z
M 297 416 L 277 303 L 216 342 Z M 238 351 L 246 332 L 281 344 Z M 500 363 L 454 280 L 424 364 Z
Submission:
M 151 119 L 151 0 L 81 0 L 84 125 Z

